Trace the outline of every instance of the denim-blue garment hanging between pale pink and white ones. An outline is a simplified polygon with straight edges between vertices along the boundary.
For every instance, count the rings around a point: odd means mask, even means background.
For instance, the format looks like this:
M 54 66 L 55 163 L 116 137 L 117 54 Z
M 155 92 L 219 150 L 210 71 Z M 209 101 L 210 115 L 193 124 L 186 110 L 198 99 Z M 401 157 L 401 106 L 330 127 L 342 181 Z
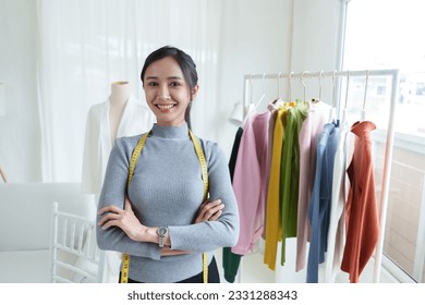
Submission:
M 318 282 L 318 266 L 325 261 L 330 220 L 333 161 L 339 139 L 338 123 L 327 123 L 316 145 L 316 174 L 308 207 L 311 240 L 307 283 Z

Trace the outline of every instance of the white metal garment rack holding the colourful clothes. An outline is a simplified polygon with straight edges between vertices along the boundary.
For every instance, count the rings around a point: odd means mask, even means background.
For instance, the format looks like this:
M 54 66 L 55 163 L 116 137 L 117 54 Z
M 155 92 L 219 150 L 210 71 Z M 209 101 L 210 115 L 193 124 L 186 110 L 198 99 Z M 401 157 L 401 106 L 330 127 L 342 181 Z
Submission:
M 374 282 L 379 283 L 380 280 L 380 268 L 382 263 L 382 251 L 384 251 L 384 237 L 385 237 L 385 225 L 387 219 L 387 207 L 388 207 L 388 194 L 390 185 L 390 175 L 391 175 L 391 160 L 392 160 L 392 150 L 394 142 L 394 113 L 396 105 L 399 97 L 399 83 L 400 83 L 400 71 L 399 70 L 359 70 L 359 71 L 319 71 L 319 72 L 290 72 L 290 73 L 260 73 L 260 74 L 245 74 L 243 83 L 243 106 L 244 106 L 244 119 L 246 118 L 246 111 L 250 106 L 250 95 L 252 94 L 252 80 L 291 80 L 300 78 L 319 78 L 320 90 L 321 90 L 321 80 L 325 77 L 333 77 L 340 81 L 342 77 L 366 77 L 366 89 L 365 89 L 365 99 L 367 90 L 367 78 L 369 76 L 390 76 L 391 77 L 391 94 L 390 94 L 390 108 L 389 108 L 389 120 L 387 129 L 387 139 L 385 148 L 385 159 L 384 159 L 384 173 L 382 173 L 382 185 L 381 194 L 379 200 L 379 239 L 378 244 L 375 251 L 375 266 L 374 266 Z M 278 82 L 279 84 L 279 82 Z M 305 86 L 304 86 L 305 88 Z M 289 89 L 291 89 L 289 87 Z M 337 100 L 340 97 L 340 86 L 336 86 L 337 89 Z M 340 102 L 337 102 L 340 105 Z

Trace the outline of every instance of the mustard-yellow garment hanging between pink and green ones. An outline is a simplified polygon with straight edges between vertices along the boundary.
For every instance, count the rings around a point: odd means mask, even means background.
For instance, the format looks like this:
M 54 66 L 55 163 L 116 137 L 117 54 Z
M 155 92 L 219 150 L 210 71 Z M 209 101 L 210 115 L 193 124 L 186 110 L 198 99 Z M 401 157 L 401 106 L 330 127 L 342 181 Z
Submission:
M 284 125 L 288 119 L 288 109 L 291 106 L 286 102 L 276 114 L 274 141 L 271 148 L 270 176 L 267 190 L 266 205 L 266 236 L 264 263 L 271 269 L 276 269 L 276 256 L 278 242 L 282 237 L 281 211 L 280 211 L 280 168 L 283 147 Z

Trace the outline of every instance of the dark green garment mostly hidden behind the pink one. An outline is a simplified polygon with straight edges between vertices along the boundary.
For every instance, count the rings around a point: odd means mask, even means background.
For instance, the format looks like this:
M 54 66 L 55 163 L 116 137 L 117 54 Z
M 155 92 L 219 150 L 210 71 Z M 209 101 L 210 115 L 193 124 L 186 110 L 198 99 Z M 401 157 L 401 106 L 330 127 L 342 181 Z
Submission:
M 243 134 L 243 129 L 239 127 L 234 136 L 233 147 L 230 155 L 229 171 L 230 171 L 230 180 L 232 181 L 232 183 L 233 183 L 234 167 L 238 160 L 238 151 L 239 151 L 239 146 L 241 144 L 242 134 Z M 224 279 L 230 283 L 234 282 L 234 279 L 238 274 L 239 266 L 241 265 L 241 258 L 242 255 L 232 253 L 231 247 L 222 248 L 222 267 L 224 271 Z

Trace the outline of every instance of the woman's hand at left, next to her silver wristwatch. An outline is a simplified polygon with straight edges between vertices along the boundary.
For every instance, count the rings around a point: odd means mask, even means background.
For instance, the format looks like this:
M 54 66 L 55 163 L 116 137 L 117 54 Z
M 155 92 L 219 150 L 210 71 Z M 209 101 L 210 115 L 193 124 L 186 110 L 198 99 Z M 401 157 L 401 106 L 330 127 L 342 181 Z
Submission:
M 121 228 L 122 231 L 133 241 L 143 242 L 143 236 L 147 233 L 147 227 L 143 225 L 134 215 L 131 202 L 125 197 L 124 209 L 117 206 L 107 206 L 98 211 L 105 215 L 98 222 L 101 229 L 106 230 L 111 227 Z

